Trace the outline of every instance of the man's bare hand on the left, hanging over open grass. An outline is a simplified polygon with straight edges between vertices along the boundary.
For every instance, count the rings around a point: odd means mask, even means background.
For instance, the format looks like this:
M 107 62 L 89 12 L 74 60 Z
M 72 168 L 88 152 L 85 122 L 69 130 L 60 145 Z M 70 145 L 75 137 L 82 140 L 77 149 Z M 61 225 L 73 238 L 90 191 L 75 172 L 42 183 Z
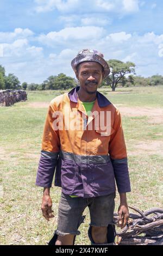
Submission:
M 47 221 L 49 221 L 49 218 L 54 217 L 52 214 L 52 212 L 54 212 L 52 211 L 52 199 L 49 195 L 49 189 L 47 188 L 44 188 L 43 191 L 41 210 L 43 217 L 45 217 Z

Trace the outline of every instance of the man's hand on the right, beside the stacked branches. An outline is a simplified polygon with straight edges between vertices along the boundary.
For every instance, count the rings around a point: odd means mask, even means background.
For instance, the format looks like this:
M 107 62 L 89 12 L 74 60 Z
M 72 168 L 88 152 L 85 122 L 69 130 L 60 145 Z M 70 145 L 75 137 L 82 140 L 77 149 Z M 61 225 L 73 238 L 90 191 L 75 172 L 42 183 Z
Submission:
M 128 205 L 126 204 L 120 204 L 118 208 L 118 227 L 124 228 L 126 227 L 129 219 L 129 210 Z

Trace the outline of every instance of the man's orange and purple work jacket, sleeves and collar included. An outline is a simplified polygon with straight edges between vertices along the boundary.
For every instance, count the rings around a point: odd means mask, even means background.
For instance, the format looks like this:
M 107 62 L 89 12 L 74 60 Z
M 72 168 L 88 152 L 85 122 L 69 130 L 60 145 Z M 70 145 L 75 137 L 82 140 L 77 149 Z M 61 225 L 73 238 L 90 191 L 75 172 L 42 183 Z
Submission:
M 130 192 L 120 112 L 97 92 L 88 118 L 78 89 L 55 97 L 49 105 L 36 185 L 51 187 L 55 172 L 54 184 L 66 194 L 106 195 L 115 192 L 115 180 L 118 192 Z

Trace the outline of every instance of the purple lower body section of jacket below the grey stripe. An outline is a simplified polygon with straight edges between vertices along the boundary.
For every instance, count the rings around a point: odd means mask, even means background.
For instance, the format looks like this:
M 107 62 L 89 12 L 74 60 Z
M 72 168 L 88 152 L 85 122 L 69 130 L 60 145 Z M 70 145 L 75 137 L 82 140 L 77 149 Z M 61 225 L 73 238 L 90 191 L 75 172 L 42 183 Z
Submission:
M 115 192 L 115 176 L 112 163 L 86 164 L 58 159 L 55 186 L 62 187 L 65 194 L 78 197 L 97 197 Z

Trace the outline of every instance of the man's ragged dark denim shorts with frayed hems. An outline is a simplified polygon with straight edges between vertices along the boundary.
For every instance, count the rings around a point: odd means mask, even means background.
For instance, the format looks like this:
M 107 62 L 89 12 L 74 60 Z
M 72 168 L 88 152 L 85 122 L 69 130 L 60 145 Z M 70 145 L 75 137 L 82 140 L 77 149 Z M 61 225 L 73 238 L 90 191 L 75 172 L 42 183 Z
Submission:
M 89 225 L 108 227 L 109 224 L 114 224 L 115 196 L 116 193 L 114 192 L 106 196 L 72 198 L 61 192 L 56 233 L 60 236 L 67 234 L 79 235 L 78 228 L 84 222 L 83 212 L 87 206 L 89 207 L 91 220 Z

